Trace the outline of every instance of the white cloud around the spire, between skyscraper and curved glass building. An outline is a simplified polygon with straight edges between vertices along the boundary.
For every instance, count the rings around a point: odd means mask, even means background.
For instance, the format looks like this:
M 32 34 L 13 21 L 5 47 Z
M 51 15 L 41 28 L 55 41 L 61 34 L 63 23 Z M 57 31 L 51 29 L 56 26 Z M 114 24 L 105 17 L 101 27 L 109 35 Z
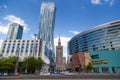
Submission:
M 55 48 L 58 45 L 58 39 L 59 36 L 54 38 Z M 67 44 L 68 41 L 71 39 L 71 37 L 60 36 L 60 39 L 61 39 L 61 45 L 63 46 L 63 56 L 67 57 Z

